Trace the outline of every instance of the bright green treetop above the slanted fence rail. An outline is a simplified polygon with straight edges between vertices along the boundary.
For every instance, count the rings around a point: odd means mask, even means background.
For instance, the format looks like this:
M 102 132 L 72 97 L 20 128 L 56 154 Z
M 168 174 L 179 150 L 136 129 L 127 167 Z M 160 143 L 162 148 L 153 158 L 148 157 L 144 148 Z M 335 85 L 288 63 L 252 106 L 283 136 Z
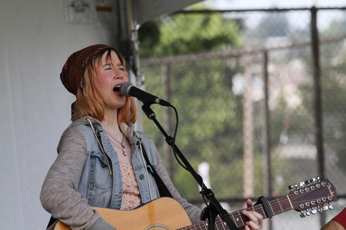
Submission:
M 201 9 L 195 4 L 192 9 Z M 173 14 L 145 22 L 138 31 L 142 58 L 196 53 L 239 46 L 240 22 L 220 13 Z

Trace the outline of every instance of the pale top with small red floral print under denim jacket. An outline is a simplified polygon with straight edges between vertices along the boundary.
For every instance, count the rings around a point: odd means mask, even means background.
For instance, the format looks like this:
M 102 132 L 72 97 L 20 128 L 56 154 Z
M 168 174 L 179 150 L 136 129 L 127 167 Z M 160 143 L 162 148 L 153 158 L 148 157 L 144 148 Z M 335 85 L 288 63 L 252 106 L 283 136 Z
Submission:
M 120 210 L 131 210 L 142 204 L 138 183 L 131 163 L 120 163 L 122 198 Z

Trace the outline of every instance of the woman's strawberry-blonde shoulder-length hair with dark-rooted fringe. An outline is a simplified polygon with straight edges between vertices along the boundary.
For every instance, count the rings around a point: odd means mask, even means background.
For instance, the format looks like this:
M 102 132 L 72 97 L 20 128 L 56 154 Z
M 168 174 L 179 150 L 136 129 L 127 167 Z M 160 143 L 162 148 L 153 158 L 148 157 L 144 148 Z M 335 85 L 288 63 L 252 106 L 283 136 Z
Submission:
M 113 64 L 111 60 L 112 50 L 118 55 L 127 75 L 125 60 L 117 50 L 106 48 L 96 54 L 92 62 L 86 67 L 83 77 L 79 83 L 76 93 L 76 101 L 72 104 L 71 121 L 78 120 L 85 116 L 93 117 L 99 121 L 104 119 L 104 108 L 107 106 L 107 102 L 96 87 L 96 69 L 100 66 L 102 56 L 106 52 L 107 62 L 109 61 L 108 63 Z M 135 123 L 137 118 L 137 110 L 134 98 L 126 97 L 124 106 L 119 108 L 117 112 L 118 125 L 120 125 L 120 123 Z

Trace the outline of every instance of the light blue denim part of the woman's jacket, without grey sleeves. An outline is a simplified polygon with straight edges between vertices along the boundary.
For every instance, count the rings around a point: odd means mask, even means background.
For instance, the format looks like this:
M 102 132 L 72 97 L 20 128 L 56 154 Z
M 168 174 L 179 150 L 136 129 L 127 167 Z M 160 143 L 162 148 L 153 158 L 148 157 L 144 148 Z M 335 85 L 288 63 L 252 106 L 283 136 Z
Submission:
M 73 129 L 79 130 L 86 140 L 86 158 L 78 191 L 81 193 L 83 198 L 88 200 L 90 206 L 120 209 L 122 180 L 118 156 L 104 129 L 99 124 L 93 124 L 93 126 L 106 156 L 103 155 L 94 136 L 93 130 L 89 125 L 78 124 L 73 127 Z M 154 154 L 155 146 L 153 141 L 144 133 L 137 133 L 139 134 L 139 137 L 137 137 L 135 133 L 131 135 L 131 161 L 136 174 L 142 202 L 146 203 L 152 199 L 159 198 L 160 194 L 153 176 L 153 170 L 146 162 L 143 162 L 139 145 L 140 143 L 143 143 L 148 159 L 154 170 L 157 169 Z M 108 161 L 106 160 L 106 157 L 108 158 Z M 149 178 L 147 177 L 144 167 L 147 168 Z M 152 199 L 149 194 L 148 184 L 150 184 Z

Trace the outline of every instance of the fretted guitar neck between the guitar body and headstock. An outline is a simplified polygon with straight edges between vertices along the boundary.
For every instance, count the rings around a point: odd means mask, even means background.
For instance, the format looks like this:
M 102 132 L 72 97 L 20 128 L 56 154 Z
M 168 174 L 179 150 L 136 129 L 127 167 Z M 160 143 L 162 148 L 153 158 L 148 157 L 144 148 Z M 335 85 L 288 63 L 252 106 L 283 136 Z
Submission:
M 292 204 L 288 196 L 282 197 L 279 199 L 275 199 L 272 201 L 267 201 L 267 205 L 270 211 L 270 214 L 272 216 L 275 216 L 277 214 L 292 210 Z M 257 204 L 252 207 L 248 207 L 245 209 L 240 209 L 235 212 L 228 213 L 233 222 L 236 224 L 237 228 L 244 227 L 246 225 L 246 222 L 249 221 L 248 217 L 243 214 L 243 210 L 246 211 L 255 211 L 262 215 L 263 219 L 268 218 L 265 209 L 263 207 L 263 204 Z M 204 221 L 198 224 L 193 224 L 191 226 L 187 226 L 184 228 L 180 228 L 177 230 L 208 230 L 208 221 Z M 223 221 L 220 217 L 215 219 L 215 229 L 216 230 L 229 230 L 228 226 L 226 225 L 225 221 Z

